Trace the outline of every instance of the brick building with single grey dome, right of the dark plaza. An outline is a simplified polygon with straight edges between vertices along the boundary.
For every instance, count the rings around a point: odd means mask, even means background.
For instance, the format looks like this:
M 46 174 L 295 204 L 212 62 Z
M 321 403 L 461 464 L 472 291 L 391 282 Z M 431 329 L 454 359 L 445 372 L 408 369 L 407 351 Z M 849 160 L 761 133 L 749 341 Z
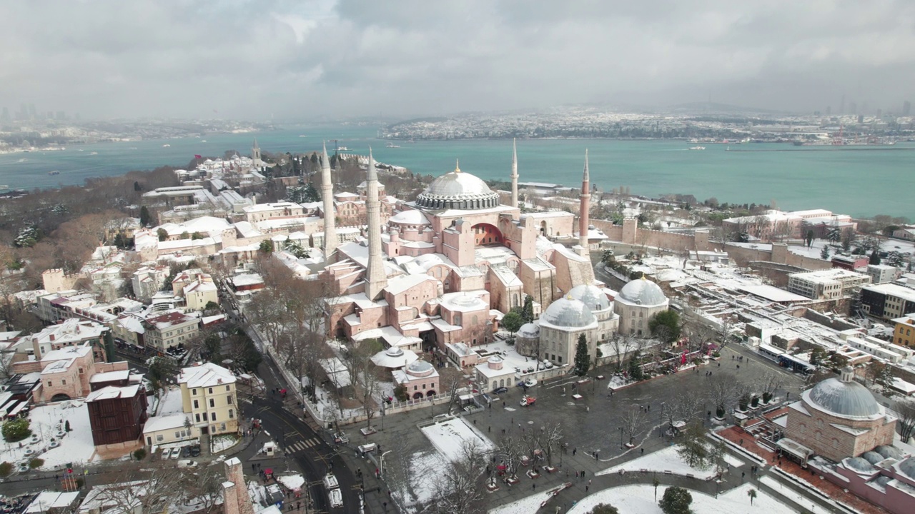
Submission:
M 834 462 L 892 444 L 896 418 L 854 377 L 855 372 L 845 368 L 839 378 L 804 391 L 801 400 L 790 405 L 786 436 Z

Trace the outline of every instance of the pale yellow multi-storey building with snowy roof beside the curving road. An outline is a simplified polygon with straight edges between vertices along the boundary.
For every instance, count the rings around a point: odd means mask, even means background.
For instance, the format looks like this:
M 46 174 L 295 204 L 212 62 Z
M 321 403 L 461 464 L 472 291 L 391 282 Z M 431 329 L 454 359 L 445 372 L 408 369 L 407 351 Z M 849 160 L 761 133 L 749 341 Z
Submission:
M 210 362 L 181 369 L 178 375 L 184 412 L 201 434 L 238 432 L 238 397 L 235 375 Z

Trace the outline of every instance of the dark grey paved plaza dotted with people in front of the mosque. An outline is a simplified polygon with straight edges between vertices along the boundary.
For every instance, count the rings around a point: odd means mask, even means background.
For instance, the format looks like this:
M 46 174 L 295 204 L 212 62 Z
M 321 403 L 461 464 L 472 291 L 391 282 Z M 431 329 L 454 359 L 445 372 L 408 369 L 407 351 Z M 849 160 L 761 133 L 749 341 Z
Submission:
M 743 356 L 743 360 L 738 359 L 740 356 Z M 489 408 L 468 414 L 466 420 L 480 433 L 487 435 L 494 444 L 499 444 L 503 431 L 504 434 L 521 434 L 522 431 L 540 430 L 547 424 L 562 423 L 563 441 L 568 444 L 568 448 L 565 452 L 554 455 L 554 466 L 559 466 L 559 471 L 554 474 L 543 473 L 535 479 L 519 473 L 520 484 L 514 487 L 501 484 L 498 491 L 488 495 L 490 507 L 523 498 L 536 491 L 560 486 L 566 481 L 575 483 L 575 486 L 566 489 L 561 496 L 583 498 L 586 495 L 584 487 L 587 485 L 587 479 L 595 479 L 593 487 L 598 486 L 595 477 L 597 471 L 643 455 L 642 451 L 649 454 L 672 444 L 669 438 L 662 437 L 659 430 L 664 423 L 662 402 L 672 402 L 679 391 L 703 391 L 705 381 L 708 380 L 707 371 L 712 371 L 713 375 L 727 372 L 739 380 L 752 382 L 760 379 L 768 370 L 778 370 L 784 375 L 784 385 L 777 393 L 777 397 L 782 399 L 786 392 L 791 392 L 791 398 L 797 398 L 803 384 L 799 376 L 785 372 L 773 362 L 760 359 L 755 352 L 737 345 L 725 348 L 722 359 L 718 362 L 713 361 L 697 369 L 698 372 L 687 369 L 632 385 L 616 391 L 612 396 L 609 395 L 608 380 L 593 378 L 600 373 L 608 376 L 608 369 L 592 370 L 589 373 L 591 380 L 576 390 L 581 399 L 572 398 L 572 384 L 576 382 L 577 377 L 568 377 L 538 384 L 528 391 L 537 398 L 536 404 L 530 407 L 520 406 L 523 391 L 518 387 L 511 388 L 499 396 L 493 396 Z M 642 405 L 648 413 L 642 433 L 637 438 L 640 445 L 630 450 L 621 446 L 621 442 L 625 441 L 621 441 L 619 417 L 620 412 L 632 408 L 632 405 Z M 712 405 L 707 403 L 704 410 L 713 410 Z M 410 493 L 404 492 L 409 490 L 404 484 L 414 484 L 422 479 L 417 475 L 429 472 L 428 469 L 420 469 L 417 463 L 411 462 L 411 455 L 430 455 L 435 451 L 418 427 L 432 423 L 434 416 L 443 413 L 443 405 L 430 405 L 413 412 L 386 416 L 383 420 L 383 430 L 366 438 L 373 443 L 381 444 L 382 454 L 391 451 L 384 457 L 384 478 L 393 492 L 394 500 L 398 503 L 404 502 L 404 499 L 407 503 L 413 501 L 415 498 L 410 498 Z M 376 418 L 373 424 L 381 428 L 382 420 Z M 350 431 L 356 432 L 352 427 Z M 584 472 L 586 478 L 579 477 L 576 480 L 576 471 L 579 474 Z M 633 478 L 622 479 L 625 481 Z M 676 477 L 668 479 L 674 480 Z M 614 480 L 617 478 L 601 477 L 600 484 Z M 731 487 L 737 485 L 738 482 L 731 484 Z M 602 487 L 609 486 L 604 484 Z M 419 494 L 421 496 L 421 493 Z M 406 498 L 397 498 L 398 496 Z

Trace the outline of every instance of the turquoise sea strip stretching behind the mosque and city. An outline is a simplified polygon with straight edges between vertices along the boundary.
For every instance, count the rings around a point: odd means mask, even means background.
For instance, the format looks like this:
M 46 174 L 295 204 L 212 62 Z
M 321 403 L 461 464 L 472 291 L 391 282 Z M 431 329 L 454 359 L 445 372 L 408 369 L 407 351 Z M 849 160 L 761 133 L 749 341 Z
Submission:
M 253 139 L 268 152 L 310 152 L 328 141 L 328 152 L 368 154 L 379 162 L 438 176 L 454 170 L 485 179 L 509 180 L 511 140 L 475 139 L 389 142 L 374 125 L 287 126 L 244 134 L 69 145 L 64 150 L 0 155 L 0 185 L 11 189 L 79 185 L 156 166 L 188 166 L 194 155 L 220 157 L 226 150 L 251 154 Z M 337 140 L 332 141 L 332 140 Z M 523 139 L 518 141 L 521 182 L 580 187 L 589 155 L 592 184 L 636 195 L 681 193 L 699 201 L 757 203 L 779 209 L 830 209 L 856 217 L 888 214 L 915 219 L 915 143 L 892 146 L 793 146 L 749 143 L 615 139 Z M 343 152 L 343 150 L 341 150 Z M 48 175 L 49 172 L 59 172 Z M 908 193 L 906 191 L 909 191 Z

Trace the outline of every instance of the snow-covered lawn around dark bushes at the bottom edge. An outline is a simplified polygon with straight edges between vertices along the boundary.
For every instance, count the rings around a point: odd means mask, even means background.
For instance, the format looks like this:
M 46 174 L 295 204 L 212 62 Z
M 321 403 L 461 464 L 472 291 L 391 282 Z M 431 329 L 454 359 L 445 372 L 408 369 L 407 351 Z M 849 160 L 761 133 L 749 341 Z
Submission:
M 658 498 L 662 498 L 665 487 L 658 487 Z M 693 512 L 702 514 L 791 514 L 797 510 L 780 503 L 777 499 L 757 489 L 752 507 L 749 504 L 747 491 L 751 487 L 745 484 L 727 494 L 715 497 L 704 493 L 690 491 Z M 607 503 L 619 509 L 619 514 L 662 514 L 661 507 L 654 501 L 654 487 L 624 486 L 597 491 L 579 501 L 568 514 L 587 514 L 598 503 Z M 533 512 L 533 511 L 532 511 Z

